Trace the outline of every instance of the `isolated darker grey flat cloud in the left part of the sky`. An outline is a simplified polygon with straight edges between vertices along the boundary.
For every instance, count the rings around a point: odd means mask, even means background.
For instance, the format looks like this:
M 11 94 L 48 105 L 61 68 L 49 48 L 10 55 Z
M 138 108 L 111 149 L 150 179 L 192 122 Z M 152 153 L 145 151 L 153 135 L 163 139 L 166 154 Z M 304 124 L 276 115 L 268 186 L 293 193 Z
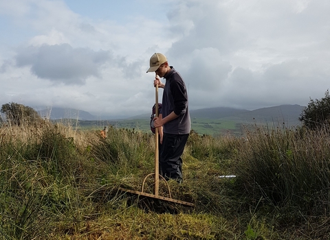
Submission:
M 109 51 L 74 49 L 68 44 L 31 46 L 20 49 L 16 56 L 18 67 L 31 66 L 34 75 L 64 84 L 85 84 L 87 77 L 98 76 L 100 66 L 108 60 Z

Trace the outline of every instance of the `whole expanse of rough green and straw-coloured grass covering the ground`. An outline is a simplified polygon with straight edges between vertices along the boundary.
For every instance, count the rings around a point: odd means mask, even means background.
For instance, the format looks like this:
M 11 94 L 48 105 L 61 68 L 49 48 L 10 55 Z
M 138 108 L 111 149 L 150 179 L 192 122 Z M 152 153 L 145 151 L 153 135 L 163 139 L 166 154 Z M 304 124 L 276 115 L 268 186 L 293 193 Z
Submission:
M 194 207 L 120 191 L 141 191 L 153 173 L 154 135 L 109 126 L 101 139 L 99 130 L 1 125 L 1 239 L 330 237 L 328 128 L 255 125 L 244 138 L 192 131 L 184 182 L 168 184 Z M 153 179 L 145 189 L 153 193 Z M 159 195 L 168 195 L 164 182 Z

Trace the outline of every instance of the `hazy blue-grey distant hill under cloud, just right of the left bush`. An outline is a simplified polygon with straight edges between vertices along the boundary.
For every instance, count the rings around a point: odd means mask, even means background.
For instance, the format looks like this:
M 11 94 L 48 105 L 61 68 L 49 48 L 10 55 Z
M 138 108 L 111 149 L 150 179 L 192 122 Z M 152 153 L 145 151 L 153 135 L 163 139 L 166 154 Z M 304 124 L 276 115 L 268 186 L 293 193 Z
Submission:
M 49 119 L 78 119 L 84 121 L 93 121 L 97 118 L 91 115 L 89 112 L 83 110 L 77 110 L 73 108 L 49 108 L 39 110 L 39 115 L 41 117 L 46 117 Z

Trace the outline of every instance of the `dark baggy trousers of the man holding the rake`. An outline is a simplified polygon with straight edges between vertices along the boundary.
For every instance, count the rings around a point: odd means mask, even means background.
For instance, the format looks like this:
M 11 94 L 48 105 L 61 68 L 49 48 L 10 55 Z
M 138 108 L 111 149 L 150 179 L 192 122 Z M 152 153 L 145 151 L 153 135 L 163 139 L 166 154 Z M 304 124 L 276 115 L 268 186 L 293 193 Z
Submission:
M 162 152 L 159 158 L 159 169 L 162 176 L 182 181 L 182 158 L 184 146 L 189 134 L 166 134 L 164 132 Z

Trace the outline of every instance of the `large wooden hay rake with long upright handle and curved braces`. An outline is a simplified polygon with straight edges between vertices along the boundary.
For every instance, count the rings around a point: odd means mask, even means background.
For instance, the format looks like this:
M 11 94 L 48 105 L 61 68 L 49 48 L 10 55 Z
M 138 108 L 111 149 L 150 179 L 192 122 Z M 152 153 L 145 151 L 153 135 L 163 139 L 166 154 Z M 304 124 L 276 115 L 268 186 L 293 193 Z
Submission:
M 158 76 L 156 75 L 156 77 L 158 77 Z M 155 89 L 156 89 L 156 93 L 155 93 L 155 115 L 156 115 L 156 117 L 158 117 L 159 116 L 158 84 L 155 86 Z M 166 181 L 166 179 L 163 176 L 161 176 L 159 174 L 159 147 L 158 147 L 159 139 L 158 139 L 158 136 L 159 136 L 158 128 L 155 128 L 155 172 L 148 174 L 144 178 L 144 180 L 142 182 L 142 190 L 141 191 L 134 191 L 134 190 L 131 190 L 131 189 L 122 189 L 122 188 L 120 188 L 120 190 L 125 191 L 125 192 L 129 192 L 129 193 L 134 193 L 134 194 L 137 194 L 139 196 L 142 195 L 142 196 L 146 196 L 146 197 L 153 197 L 153 198 L 156 198 L 156 199 L 159 199 L 159 200 L 165 200 L 165 201 L 168 201 L 168 202 L 175 202 L 177 204 L 184 204 L 184 205 L 187 205 L 187 206 L 194 206 L 194 204 L 192 204 L 190 202 L 184 202 L 184 201 L 181 201 L 181 200 L 173 199 L 171 197 L 171 194 L 170 194 L 170 186 L 168 185 L 168 182 Z M 144 183 L 146 182 L 146 179 L 150 176 L 155 176 L 155 193 L 154 194 L 144 192 Z M 166 182 L 169 197 L 164 197 L 164 196 L 159 195 L 159 176 L 164 180 L 164 182 Z

